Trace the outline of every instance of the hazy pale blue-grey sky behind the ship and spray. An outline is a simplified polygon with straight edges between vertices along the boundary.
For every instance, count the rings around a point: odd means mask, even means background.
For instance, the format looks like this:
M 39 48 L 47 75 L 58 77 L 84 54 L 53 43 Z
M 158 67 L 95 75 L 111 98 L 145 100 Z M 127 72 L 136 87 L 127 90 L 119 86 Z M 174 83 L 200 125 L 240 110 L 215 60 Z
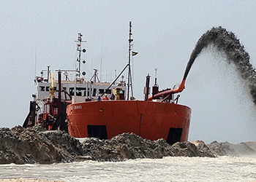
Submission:
M 42 69 L 50 66 L 56 75 L 56 69 L 74 68 L 78 33 L 86 40 L 87 78 L 102 67 L 99 78 L 110 81 L 127 64 L 132 22 L 139 100 L 147 74 L 154 84 L 155 68 L 161 90 L 178 85 L 197 40 L 214 26 L 233 31 L 256 64 L 256 1 L 1 0 L 0 8 L 0 127 L 23 124 Z M 222 52 L 202 52 L 180 95 L 179 103 L 192 108 L 189 141 L 256 141 L 255 105 Z

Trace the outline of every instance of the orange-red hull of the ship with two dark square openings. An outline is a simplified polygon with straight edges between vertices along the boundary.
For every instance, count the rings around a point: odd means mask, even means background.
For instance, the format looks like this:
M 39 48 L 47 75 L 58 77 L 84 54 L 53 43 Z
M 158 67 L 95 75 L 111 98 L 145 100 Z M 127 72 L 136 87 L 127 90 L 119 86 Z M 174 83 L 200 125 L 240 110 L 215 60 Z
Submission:
M 151 141 L 187 141 L 191 108 L 176 103 L 105 100 L 67 106 L 69 134 L 75 138 L 109 139 L 133 132 Z

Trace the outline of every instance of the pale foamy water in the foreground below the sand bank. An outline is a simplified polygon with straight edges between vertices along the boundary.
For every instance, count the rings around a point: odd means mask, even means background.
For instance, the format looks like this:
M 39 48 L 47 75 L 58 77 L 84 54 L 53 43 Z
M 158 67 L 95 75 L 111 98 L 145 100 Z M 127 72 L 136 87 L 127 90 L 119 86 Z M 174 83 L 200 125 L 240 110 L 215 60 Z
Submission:
M 126 162 L 0 165 L 0 179 L 62 181 L 252 181 L 256 157 L 165 157 Z

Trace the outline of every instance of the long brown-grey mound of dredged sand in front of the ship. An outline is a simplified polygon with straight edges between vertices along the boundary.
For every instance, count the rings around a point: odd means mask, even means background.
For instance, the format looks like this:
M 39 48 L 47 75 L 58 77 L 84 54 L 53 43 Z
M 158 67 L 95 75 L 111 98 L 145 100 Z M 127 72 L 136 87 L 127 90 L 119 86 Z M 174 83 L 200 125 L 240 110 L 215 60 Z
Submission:
M 37 126 L 38 127 L 38 126 Z M 0 128 L 0 164 L 74 162 L 81 160 L 124 161 L 162 157 L 217 157 L 256 154 L 255 142 L 206 144 L 203 141 L 178 142 L 170 146 L 160 138 L 149 141 L 133 133 L 109 140 L 78 140 L 61 131 L 40 131 L 37 127 Z

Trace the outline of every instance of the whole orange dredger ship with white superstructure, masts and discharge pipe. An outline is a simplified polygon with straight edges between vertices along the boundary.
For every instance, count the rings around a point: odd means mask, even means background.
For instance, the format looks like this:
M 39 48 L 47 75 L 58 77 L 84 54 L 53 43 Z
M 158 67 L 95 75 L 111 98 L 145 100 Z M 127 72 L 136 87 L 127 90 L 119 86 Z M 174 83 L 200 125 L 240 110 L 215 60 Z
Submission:
M 129 23 L 128 63 L 113 82 L 100 82 L 97 69 L 90 80 L 85 72 L 80 73 L 82 34 L 78 33 L 78 68 L 76 70 L 56 70 L 58 79 L 53 79 L 50 66 L 41 71 L 34 82 L 37 94 L 32 95 L 29 114 L 23 127 L 43 124 L 45 130 L 64 130 L 75 138 L 109 139 L 123 132 L 133 132 L 148 140 L 164 138 L 167 143 L 187 141 L 191 108 L 178 104 L 184 90 L 185 79 L 178 87 L 159 90 L 157 78 L 150 90 L 150 76 L 146 76 L 144 100 L 136 100 L 132 92 L 131 57 L 132 25 Z M 128 70 L 127 81 L 122 75 Z M 75 80 L 69 80 L 69 72 L 76 73 Z M 47 73 L 47 74 L 45 74 Z M 45 78 L 47 75 L 47 78 Z M 61 78 L 64 75 L 64 79 Z M 120 78 L 121 76 L 121 78 Z

